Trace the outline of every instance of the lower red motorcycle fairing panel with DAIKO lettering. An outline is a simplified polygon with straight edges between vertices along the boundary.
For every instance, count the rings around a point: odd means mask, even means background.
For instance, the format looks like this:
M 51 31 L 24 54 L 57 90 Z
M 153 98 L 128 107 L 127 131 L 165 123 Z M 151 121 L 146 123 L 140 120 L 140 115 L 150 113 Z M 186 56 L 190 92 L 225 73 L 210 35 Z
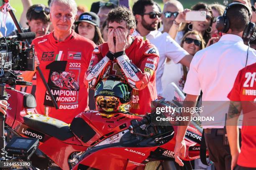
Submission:
M 142 162 L 156 148 L 109 147 L 100 149 L 86 156 L 72 170 L 85 170 L 87 168 L 97 168 L 99 170 L 133 170 L 137 166 L 145 166 Z

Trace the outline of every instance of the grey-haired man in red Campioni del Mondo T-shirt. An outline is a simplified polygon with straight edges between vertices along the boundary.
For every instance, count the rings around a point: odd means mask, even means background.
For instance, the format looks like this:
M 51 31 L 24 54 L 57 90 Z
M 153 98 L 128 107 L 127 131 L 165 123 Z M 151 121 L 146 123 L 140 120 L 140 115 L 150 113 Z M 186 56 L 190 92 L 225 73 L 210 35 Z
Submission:
M 70 123 L 74 116 L 89 109 L 88 89 L 83 78 L 96 45 L 72 30 L 77 15 L 74 0 L 51 0 L 50 9 L 54 31 L 34 39 L 32 45 L 59 109 L 54 107 L 39 72 L 34 71 L 37 110 L 40 114 Z M 24 79 L 31 81 L 34 72 L 23 74 Z

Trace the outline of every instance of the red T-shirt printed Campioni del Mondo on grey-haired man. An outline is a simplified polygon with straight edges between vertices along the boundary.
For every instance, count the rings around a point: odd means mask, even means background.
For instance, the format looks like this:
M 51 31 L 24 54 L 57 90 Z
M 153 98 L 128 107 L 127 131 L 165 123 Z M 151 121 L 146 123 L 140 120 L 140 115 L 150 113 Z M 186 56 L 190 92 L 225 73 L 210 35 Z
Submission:
M 40 114 L 70 123 L 77 114 L 88 109 L 88 89 L 83 79 L 96 45 L 74 30 L 62 42 L 55 40 L 51 32 L 34 39 L 32 44 L 35 45 L 41 71 L 59 106 L 56 110 L 36 72 L 36 108 Z

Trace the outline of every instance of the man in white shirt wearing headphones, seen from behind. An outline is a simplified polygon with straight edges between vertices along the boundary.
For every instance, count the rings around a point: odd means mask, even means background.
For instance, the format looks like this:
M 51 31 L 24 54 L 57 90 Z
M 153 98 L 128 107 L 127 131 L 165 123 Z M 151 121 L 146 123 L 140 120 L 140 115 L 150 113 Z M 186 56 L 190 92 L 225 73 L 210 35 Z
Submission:
M 223 36 L 215 44 L 195 54 L 183 90 L 187 93 L 184 100 L 186 107 L 195 107 L 202 90 L 203 112 L 200 116 L 214 117 L 212 122 L 202 122 L 202 139 L 205 138 L 210 160 L 217 170 L 231 168 L 230 148 L 224 127 L 225 113 L 228 112 L 227 95 L 233 87 L 238 71 L 256 62 L 256 51 L 245 45 L 242 39 L 250 38 L 255 30 L 255 25 L 250 19 L 250 10 L 241 3 L 232 3 L 225 8 L 223 16 L 217 18 L 216 25 Z M 186 113 L 182 112 L 182 115 Z M 187 115 L 191 116 L 190 113 Z M 175 161 L 183 166 L 180 158 L 184 158 L 186 153 L 184 136 L 188 122 L 181 123 L 185 125 L 178 127 L 174 155 Z

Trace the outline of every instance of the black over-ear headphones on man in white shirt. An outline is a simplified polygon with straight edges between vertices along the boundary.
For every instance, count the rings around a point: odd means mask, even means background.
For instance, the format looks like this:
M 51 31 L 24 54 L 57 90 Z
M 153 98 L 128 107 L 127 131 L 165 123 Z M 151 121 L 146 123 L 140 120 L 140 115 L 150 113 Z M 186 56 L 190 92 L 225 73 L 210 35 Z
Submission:
M 240 5 L 241 7 L 245 7 L 248 10 L 248 15 L 250 18 L 249 23 L 246 25 L 246 28 L 243 31 L 243 38 L 251 38 L 251 36 L 253 35 L 254 31 L 255 31 L 255 24 L 251 22 L 251 12 L 248 9 L 248 7 L 246 5 L 243 5 L 242 3 L 238 3 L 238 2 L 234 2 L 234 3 L 230 3 L 224 10 L 223 16 L 218 16 L 217 18 L 217 22 L 216 22 L 216 29 L 219 32 L 223 32 L 226 33 L 229 30 L 230 27 L 230 22 L 228 20 L 227 15 L 227 10 L 230 9 L 230 7 L 233 7 L 235 5 Z

